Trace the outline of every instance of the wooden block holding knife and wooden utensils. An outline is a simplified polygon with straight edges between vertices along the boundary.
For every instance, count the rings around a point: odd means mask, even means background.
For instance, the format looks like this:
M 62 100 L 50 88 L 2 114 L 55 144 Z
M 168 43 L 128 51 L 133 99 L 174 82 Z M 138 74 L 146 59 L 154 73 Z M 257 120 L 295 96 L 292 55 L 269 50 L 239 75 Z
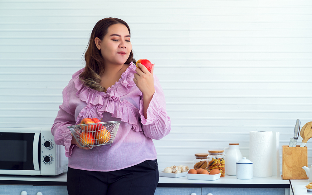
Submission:
M 309 179 L 303 166 L 308 166 L 308 148 L 282 146 L 282 179 Z

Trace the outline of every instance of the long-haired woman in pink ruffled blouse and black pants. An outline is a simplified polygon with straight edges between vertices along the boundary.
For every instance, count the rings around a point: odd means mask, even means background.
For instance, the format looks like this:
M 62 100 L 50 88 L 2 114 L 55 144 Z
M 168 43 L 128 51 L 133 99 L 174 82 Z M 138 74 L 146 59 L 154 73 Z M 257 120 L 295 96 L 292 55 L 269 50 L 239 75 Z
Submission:
M 85 68 L 63 90 L 51 132 L 69 157 L 69 195 L 154 194 L 158 184 L 152 139 L 171 130 L 159 80 L 138 63 L 130 29 L 118 18 L 98 21 L 85 52 Z M 83 118 L 122 121 L 112 144 L 81 147 L 66 127 Z

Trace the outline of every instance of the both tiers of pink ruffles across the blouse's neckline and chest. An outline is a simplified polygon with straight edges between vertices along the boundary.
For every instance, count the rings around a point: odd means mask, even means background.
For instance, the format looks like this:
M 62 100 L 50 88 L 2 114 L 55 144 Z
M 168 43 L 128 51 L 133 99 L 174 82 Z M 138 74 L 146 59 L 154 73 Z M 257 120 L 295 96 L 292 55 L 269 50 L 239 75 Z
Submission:
M 129 65 L 130 66 L 124 71 L 118 82 L 109 87 L 106 93 L 90 89 L 90 87 L 86 87 L 82 84 L 79 79 L 79 74 L 83 69 L 77 71 L 72 76 L 77 89 L 76 96 L 87 104 L 77 116 L 77 124 L 83 118 L 91 117 L 100 119 L 103 117 L 104 112 L 109 112 L 113 118 L 118 118 L 122 122 L 132 124 L 134 131 L 142 131 L 139 124 L 139 109 L 129 101 L 120 100 L 119 98 L 129 94 L 129 90 L 137 90 L 138 93 L 141 93 L 138 88 L 130 89 L 135 85 L 133 78 L 136 65 L 132 62 Z

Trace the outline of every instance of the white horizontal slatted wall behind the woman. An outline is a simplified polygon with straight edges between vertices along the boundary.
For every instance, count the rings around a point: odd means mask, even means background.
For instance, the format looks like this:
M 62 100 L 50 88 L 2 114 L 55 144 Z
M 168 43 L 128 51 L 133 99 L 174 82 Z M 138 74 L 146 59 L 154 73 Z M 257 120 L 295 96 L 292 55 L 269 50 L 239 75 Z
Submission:
M 288 145 L 296 119 L 312 120 L 310 0 L 1 0 L 1 127 L 51 127 L 105 17 L 126 21 L 134 57 L 156 65 L 172 120 L 154 141 L 160 169 L 229 143 L 249 158 L 250 131 Z

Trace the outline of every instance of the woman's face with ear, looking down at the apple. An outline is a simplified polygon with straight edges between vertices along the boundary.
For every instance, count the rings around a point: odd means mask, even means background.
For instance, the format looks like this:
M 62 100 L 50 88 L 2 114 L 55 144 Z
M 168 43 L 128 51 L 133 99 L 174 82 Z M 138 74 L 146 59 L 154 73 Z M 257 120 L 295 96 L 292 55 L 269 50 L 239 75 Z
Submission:
M 103 40 L 96 37 L 95 44 L 101 50 L 105 64 L 124 64 L 132 49 L 128 28 L 123 24 L 108 27 Z

